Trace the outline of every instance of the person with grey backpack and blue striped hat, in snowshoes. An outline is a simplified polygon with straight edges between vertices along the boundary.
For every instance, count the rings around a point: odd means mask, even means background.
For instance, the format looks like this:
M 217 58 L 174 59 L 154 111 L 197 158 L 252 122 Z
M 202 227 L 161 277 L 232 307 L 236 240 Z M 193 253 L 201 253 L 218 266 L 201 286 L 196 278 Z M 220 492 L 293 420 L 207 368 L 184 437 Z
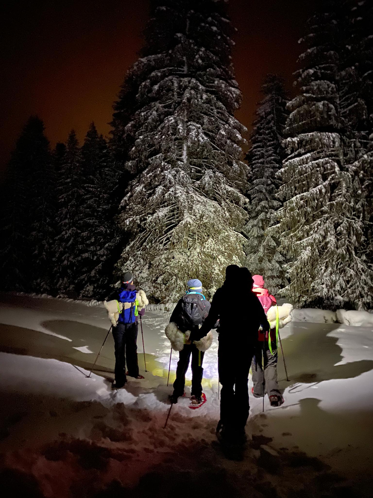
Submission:
M 191 355 L 191 408 L 201 406 L 206 397 L 202 393 L 203 356 L 209 345 L 201 347 L 188 340 L 189 335 L 199 329 L 210 309 L 210 303 L 202 294 L 202 282 L 196 278 L 187 282 L 188 290 L 176 305 L 170 323 L 166 327 L 166 336 L 170 339 L 173 349 L 179 351 L 179 362 L 174 382 L 174 392 L 170 395 L 172 403 L 184 395 L 185 374 Z M 212 340 L 212 336 L 211 336 Z M 199 349 L 198 349 L 199 348 Z

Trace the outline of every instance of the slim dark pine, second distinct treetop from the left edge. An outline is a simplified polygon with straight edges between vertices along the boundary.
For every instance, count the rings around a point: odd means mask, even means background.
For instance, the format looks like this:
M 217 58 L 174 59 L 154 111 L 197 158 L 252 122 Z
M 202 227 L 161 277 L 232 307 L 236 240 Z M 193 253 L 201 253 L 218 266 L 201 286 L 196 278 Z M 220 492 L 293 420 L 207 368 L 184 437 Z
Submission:
M 76 297 L 79 208 L 84 194 L 81 151 L 74 130 L 66 142 L 66 155 L 58 179 L 57 237 L 55 239 L 55 285 L 62 297 Z

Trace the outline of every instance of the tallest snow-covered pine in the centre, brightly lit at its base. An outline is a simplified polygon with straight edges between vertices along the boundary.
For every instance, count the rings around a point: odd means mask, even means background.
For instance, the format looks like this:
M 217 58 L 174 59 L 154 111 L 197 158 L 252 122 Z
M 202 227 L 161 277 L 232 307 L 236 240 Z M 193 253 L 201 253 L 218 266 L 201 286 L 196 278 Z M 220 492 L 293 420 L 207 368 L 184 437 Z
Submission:
M 143 57 L 114 105 L 113 146 L 132 175 L 119 224 L 118 271 L 132 270 L 156 301 L 190 277 L 210 295 L 242 263 L 247 221 L 245 130 L 224 0 L 156 0 Z

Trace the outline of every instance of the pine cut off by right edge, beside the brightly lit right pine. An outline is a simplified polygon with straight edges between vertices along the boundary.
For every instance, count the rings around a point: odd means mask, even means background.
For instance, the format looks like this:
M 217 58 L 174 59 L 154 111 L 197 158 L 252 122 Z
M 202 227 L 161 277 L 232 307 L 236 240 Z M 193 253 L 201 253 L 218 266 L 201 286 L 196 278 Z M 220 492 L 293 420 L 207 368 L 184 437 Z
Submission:
M 339 87 L 345 169 L 353 178 L 354 211 L 364 234 L 358 255 L 372 270 L 373 4 L 346 0 L 343 7 L 346 34 Z M 372 294 L 373 282 L 365 292 Z

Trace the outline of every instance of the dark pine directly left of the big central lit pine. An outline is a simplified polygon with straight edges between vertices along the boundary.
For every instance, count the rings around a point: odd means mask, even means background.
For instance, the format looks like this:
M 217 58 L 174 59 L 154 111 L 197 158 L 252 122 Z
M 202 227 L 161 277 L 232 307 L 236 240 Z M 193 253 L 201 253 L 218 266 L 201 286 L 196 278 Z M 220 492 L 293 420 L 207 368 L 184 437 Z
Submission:
M 91 124 L 82 145 L 84 194 L 78 212 L 79 232 L 76 290 L 81 297 L 106 297 L 111 284 L 115 226 L 113 191 L 116 175 L 106 140 Z

